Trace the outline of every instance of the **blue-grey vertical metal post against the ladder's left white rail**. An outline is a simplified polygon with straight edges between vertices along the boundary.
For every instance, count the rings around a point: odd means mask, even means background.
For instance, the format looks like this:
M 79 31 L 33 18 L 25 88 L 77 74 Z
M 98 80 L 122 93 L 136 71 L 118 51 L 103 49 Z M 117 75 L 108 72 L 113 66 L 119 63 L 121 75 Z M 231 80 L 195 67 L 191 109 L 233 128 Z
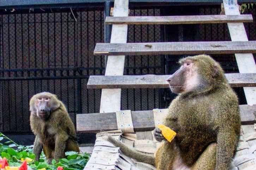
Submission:
M 104 21 L 110 16 L 110 0 L 106 0 L 104 4 Z M 111 27 L 104 22 L 104 43 L 110 43 Z M 108 62 L 108 55 L 105 55 L 105 68 Z

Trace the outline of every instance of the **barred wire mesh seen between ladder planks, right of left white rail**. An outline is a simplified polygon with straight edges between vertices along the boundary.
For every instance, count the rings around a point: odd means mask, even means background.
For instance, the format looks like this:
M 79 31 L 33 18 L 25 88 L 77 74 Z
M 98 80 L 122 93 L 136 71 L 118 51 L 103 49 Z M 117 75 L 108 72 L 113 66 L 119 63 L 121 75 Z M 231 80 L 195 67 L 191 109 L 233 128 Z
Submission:
M 159 16 L 160 9 L 131 9 L 129 16 Z M 160 42 L 160 25 L 128 25 L 128 43 Z M 164 74 L 161 55 L 127 56 L 124 74 Z M 122 110 L 152 110 L 159 108 L 159 89 L 123 89 Z

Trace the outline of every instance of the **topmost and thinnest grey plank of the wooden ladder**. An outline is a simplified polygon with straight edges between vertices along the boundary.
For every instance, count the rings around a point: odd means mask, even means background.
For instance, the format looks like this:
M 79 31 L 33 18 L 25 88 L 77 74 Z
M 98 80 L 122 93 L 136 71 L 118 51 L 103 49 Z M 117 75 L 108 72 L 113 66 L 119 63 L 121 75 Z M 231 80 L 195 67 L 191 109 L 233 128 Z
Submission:
M 252 15 L 184 15 L 106 17 L 106 24 L 211 24 L 227 22 L 253 22 Z

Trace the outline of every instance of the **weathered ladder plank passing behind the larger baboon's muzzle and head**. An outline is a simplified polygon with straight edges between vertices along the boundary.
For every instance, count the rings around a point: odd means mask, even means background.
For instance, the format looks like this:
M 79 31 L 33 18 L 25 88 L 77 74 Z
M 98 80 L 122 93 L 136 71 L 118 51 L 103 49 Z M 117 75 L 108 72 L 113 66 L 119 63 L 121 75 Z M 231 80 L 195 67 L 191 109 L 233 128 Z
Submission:
M 231 87 L 256 86 L 256 73 L 228 73 L 225 76 Z M 87 89 L 168 88 L 168 77 L 170 75 L 90 76 Z

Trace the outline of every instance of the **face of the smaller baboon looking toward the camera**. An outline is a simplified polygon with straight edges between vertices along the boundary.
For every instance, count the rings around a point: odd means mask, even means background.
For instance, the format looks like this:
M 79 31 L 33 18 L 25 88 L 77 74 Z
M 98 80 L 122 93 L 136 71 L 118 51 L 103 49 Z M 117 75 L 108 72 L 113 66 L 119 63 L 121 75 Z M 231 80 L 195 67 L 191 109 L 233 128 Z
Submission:
M 37 117 L 46 120 L 50 116 L 51 98 L 48 96 L 38 96 L 35 101 Z

